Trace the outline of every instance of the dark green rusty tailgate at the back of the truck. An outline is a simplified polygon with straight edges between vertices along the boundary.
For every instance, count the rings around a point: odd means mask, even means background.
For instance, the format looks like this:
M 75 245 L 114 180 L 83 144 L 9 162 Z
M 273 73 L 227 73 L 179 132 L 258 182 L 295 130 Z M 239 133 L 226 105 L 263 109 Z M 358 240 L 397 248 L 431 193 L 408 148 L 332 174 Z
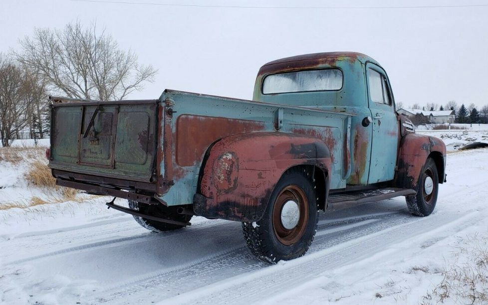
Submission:
M 51 100 L 49 167 L 152 182 L 158 100 Z

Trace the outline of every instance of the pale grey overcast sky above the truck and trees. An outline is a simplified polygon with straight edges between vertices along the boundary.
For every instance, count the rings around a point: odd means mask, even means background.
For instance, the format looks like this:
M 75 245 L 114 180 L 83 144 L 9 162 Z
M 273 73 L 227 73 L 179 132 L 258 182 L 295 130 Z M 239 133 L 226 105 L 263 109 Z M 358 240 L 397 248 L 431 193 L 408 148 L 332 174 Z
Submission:
M 236 6 L 473 5 L 469 1 L 178 1 Z M 34 27 L 74 20 L 105 26 L 156 81 L 130 98 L 158 98 L 165 88 L 250 99 L 259 67 L 286 56 L 365 53 L 386 69 L 396 101 L 488 104 L 488 6 L 428 8 L 231 8 L 0 0 L 0 52 L 18 49 Z

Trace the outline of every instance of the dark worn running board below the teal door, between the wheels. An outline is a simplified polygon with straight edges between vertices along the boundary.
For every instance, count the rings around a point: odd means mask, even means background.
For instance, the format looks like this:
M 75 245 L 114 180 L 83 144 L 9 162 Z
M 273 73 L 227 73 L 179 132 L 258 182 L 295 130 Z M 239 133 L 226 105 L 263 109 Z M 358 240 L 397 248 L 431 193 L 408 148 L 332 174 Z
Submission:
M 330 194 L 327 210 L 341 210 L 355 205 L 390 199 L 398 196 L 415 195 L 417 191 L 409 188 L 385 187 L 367 191 L 354 191 Z

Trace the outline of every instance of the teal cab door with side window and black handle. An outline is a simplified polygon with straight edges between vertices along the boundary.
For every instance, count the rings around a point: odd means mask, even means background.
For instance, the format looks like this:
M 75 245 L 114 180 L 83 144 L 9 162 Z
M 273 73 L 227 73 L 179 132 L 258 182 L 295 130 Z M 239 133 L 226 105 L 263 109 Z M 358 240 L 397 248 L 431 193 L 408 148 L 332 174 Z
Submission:
M 398 121 L 392 91 L 385 71 L 366 65 L 369 109 L 373 118 L 373 139 L 368 183 L 392 180 L 398 151 Z

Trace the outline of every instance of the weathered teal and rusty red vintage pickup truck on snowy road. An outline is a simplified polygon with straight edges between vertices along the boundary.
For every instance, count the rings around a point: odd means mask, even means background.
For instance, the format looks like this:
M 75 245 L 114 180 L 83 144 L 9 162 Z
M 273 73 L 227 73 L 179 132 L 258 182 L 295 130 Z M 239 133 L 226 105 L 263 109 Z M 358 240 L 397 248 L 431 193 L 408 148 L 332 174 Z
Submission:
M 305 254 L 318 211 L 405 196 L 432 213 L 446 147 L 395 111 L 385 70 L 354 52 L 263 65 L 253 100 L 165 90 L 157 100 L 51 97 L 49 166 L 61 186 L 168 231 L 193 215 L 242 222 L 267 262 Z

